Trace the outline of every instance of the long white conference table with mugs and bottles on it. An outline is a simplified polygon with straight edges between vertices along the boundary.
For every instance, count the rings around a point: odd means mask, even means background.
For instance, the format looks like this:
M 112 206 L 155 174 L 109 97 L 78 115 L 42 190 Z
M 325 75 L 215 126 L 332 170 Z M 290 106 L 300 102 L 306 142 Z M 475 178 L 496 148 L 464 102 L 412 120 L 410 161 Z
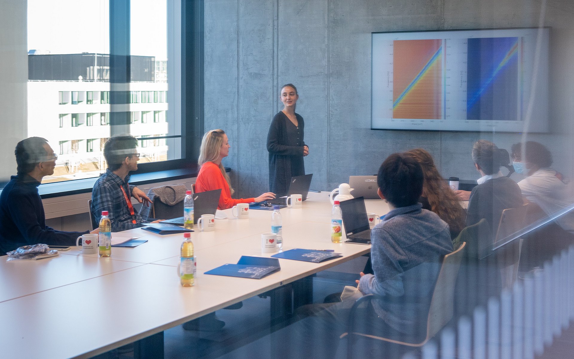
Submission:
M 302 209 L 281 209 L 283 250 L 334 249 L 342 257 L 319 264 L 280 259 L 281 270 L 259 280 L 203 273 L 243 255 L 276 254 L 261 252 L 272 211 L 250 210 L 249 219 L 236 219 L 226 210 L 215 231 L 195 228 L 193 287 L 181 287 L 177 274 L 182 234 L 125 231 L 148 242 L 113 248 L 109 258 L 75 247 L 35 261 L 0 257 L 0 356 L 89 358 L 368 253 L 370 246 L 331 242 L 328 194 L 309 192 Z M 367 212 L 389 211 L 383 200 L 365 202 Z

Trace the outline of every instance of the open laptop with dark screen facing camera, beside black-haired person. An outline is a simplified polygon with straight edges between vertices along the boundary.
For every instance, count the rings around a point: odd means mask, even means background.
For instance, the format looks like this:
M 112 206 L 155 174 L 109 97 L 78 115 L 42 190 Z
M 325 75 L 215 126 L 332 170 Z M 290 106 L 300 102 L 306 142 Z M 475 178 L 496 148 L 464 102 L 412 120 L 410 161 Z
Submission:
M 371 229 L 367 219 L 367 209 L 364 198 L 358 197 L 343 200 L 339 206 L 343 214 L 343 226 L 347 241 L 358 244 L 371 244 Z

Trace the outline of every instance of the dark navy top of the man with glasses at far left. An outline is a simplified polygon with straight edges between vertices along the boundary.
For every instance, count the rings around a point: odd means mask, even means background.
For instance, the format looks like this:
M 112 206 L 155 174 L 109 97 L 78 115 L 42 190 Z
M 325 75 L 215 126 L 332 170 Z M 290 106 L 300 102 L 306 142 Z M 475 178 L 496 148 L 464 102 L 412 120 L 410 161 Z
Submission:
M 0 194 L 0 256 L 23 245 L 76 245 L 85 232 L 65 232 L 46 226 L 38 194 L 40 182 L 29 175 L 12 176 Z

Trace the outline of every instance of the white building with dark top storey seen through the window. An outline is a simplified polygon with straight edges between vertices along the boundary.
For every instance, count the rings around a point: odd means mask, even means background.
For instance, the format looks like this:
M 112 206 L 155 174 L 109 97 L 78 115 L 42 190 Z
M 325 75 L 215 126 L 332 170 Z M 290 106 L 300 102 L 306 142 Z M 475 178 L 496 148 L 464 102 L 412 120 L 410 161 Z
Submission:
M 98 176 L 110 137 L 109 55 L 29 55 L 28 136 L 46 138 L 59 156 L 48 181 Z M 157 63 L 156 63 L 157 62 Z M 164 63 L 162 67 L 161 63 Z M 127 105 L 129 133 L 139 138 L 141 162 L 166 160 L 165 61 L 133 56 Z M 151 137 L 152 140 L 144 140 Z

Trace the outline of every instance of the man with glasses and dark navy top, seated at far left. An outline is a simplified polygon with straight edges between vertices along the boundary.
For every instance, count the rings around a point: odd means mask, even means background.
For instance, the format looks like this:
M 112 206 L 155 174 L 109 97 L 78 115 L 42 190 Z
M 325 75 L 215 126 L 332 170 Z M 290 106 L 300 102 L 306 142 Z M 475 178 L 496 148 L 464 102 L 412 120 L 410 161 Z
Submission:
M 76 245 L 83 232 L 67 232 L 46 226 L 38 186 L 44 176 L 54 173 L 58 156 L 42 137 L 18 142 L 14 150 L 17 175 L 10 178 L 0 194 L 0 255 L 23 245 Z M 98 233 L 98 229 L 91 233 Z

